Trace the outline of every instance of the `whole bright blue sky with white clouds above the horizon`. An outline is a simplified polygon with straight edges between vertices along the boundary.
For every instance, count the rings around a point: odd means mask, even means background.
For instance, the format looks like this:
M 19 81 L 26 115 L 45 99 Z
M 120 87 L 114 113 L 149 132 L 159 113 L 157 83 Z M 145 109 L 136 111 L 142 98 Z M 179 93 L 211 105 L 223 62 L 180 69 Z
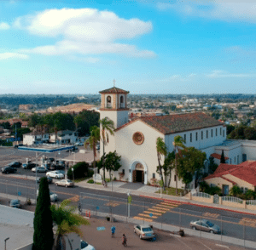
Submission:
M 1 94 L 255 94 L 256 1 L 1 1 Z

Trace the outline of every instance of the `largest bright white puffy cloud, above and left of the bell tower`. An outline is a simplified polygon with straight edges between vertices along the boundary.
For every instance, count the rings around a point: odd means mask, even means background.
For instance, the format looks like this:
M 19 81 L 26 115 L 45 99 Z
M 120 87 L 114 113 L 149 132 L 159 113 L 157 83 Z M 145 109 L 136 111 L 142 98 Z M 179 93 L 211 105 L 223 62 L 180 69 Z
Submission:
M 110 11 L 97 9 L 47 9 L 35 15 L 19 17 L 14 26 L 33 35 L 56 37 L 54 45 L 20 49 L 22 53 L 58 54 L 126 54 L 154 57 L 153 51 L 120 43 L 152 31 L 150 21 L 125 20 Z

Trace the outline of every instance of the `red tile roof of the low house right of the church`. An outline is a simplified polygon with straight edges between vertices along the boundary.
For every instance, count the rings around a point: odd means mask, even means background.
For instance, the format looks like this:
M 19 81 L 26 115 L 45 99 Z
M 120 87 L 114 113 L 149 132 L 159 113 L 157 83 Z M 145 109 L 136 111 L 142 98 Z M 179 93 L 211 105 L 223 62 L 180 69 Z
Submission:
M 256 186 L 256 162 L 249 162 L 249 166 L 245 164 L 245 162 L 240 165 L 230 165 L 230 164 L 220 164 L 215 172 L 205 179 L 212 179 L 220 177 L 222 179 L 226 179 L 233 184 L 236 184 L 235 181 L 227 179 L 224 177 L 226 174 L 230 174 L 235 176 L 238 179 L 242 179 L 249 184 Z

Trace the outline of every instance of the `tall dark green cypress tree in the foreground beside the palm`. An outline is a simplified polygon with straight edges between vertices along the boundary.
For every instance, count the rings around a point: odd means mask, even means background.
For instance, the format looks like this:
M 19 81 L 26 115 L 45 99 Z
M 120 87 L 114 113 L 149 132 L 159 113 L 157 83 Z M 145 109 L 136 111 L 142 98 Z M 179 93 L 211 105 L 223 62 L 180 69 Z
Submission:
M 46 177 L 40 180 L 38 203 L 34 217 L 33 250 L 51 250 L 54 243 L 53 220 L 50 211 L 49 185 Z

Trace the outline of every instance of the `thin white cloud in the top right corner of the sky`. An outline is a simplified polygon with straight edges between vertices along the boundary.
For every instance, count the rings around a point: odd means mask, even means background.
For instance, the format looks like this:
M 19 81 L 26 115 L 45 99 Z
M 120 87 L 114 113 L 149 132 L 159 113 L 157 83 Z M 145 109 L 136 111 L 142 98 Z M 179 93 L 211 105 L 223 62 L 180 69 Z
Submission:
M 256 3 L 255 1 L 182 1 L 175 4 L 157 3 L 157 9 L 174 9 L 187 16 L 199 16 L 207 19 L 217 19 L 225 21 L 244 20 L 256 22 Z

